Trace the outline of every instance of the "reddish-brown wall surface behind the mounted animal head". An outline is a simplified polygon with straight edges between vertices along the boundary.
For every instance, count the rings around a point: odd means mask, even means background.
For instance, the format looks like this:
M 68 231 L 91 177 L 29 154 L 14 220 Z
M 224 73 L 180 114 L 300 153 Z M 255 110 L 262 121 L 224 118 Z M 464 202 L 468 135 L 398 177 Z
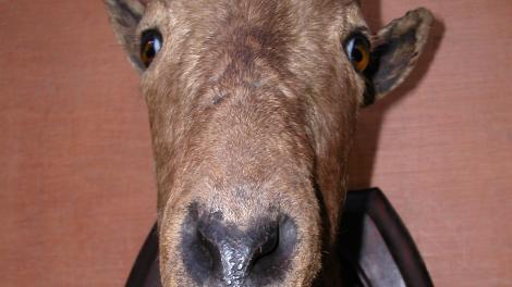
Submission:
M 437 17 L 364 110 L 351 186 L 379 186 L 437 286 L 512 285 L 512 2 L 364 1 Z M 0 1 L 2 286 L 122 286 L 155 216 L 146 107 L 101 1 Z

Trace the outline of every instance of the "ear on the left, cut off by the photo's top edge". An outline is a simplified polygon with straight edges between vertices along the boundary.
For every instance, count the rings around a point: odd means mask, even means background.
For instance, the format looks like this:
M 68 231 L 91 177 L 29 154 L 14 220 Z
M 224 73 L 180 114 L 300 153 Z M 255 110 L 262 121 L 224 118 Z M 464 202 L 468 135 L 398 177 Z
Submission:
M 138 70 L 144 68 L 139 57 L 136 35 L 138 22 L 143 17 L 147 0 L 105 0 L 110 23 L 118 41 L 123 46 L 130 62 Z

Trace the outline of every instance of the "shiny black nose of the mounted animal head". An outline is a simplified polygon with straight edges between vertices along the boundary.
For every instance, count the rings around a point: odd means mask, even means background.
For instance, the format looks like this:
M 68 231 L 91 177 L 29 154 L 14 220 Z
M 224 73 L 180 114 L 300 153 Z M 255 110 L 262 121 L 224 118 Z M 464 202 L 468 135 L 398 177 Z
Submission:
M 224 222 L 221 212 L 199 215 L 196 208 L 182 225 L 182 255 L 199 285 L 263 286 L 283 278 L 296 244 L 288 216 L 257 219 L 245 228 Z

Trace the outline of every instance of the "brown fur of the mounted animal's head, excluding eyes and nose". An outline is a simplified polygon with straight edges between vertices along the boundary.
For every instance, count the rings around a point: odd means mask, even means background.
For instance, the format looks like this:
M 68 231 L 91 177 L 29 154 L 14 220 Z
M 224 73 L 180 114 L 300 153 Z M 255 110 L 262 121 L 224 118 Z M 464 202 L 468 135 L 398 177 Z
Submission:
M 417 10 L 374 38 L 386 62 L 362 74 L 343 47 L 354 30 L 367 33 L 355 2 L 106 3 L 142 72 L 149 109 L 163 286 L 228 285 L 198 282 L 184 263 L 191 205 L 222 214 L 241 233 L 259 219 L 288 216 L 296 226 L 293 254 L 267 285 L 310 286 L 322 260 L 336 261 L 322 252 L 334 250 L 358 107 L 368 89 L 380 98 L 409 74 L 430 14 Z M 138 42 L 148 28 L 161 33 L 163 46 L 144 70 Z M 338 273 L 334 266 L 324 266 L 322 276 Z M 233 286 L 256 282 L 235 278 Z

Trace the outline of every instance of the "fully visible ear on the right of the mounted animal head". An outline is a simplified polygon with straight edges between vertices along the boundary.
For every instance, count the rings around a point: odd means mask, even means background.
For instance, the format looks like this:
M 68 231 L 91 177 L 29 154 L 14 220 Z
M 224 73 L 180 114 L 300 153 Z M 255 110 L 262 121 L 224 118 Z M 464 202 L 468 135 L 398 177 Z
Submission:
M 365 104 L 380 99 L 411 73 L 427 42 L 432 14 L 419 8 L 393 20 L 373 39 L 371 63 L 365 71 Z

